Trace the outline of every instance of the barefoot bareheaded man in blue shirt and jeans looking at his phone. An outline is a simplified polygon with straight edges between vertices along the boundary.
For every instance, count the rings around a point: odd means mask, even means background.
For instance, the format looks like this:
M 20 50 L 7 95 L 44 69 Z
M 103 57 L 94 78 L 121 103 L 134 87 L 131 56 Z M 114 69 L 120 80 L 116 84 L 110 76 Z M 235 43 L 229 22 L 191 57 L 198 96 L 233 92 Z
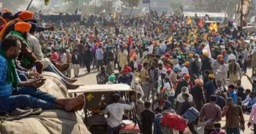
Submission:
M 46 79 L 20 81 L 15 68 L 15 59 L 21 49 L 21 39 L 9 34 L 1 42 L 0 48 L 0 114 L 12 115 L 17 108 L 81 110 L 84 107 L 83 94 L 75 98 L 60 99 L 39 90 Z M 20 88 L 21 87 L 21 88 Z M 17 112 L 16 112 L 17 113 Z

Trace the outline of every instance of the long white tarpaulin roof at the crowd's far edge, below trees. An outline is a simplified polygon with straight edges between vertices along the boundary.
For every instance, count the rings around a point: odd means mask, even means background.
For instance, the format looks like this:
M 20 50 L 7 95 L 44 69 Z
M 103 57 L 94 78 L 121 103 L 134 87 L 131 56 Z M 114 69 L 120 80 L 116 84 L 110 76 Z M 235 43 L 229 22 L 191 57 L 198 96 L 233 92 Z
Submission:
M 214 21 L 217 21 L 218 23 L 223 24 L 225 18 L 228 17 L 228 14 L 225 12 L 221 13 L 210 13 L 210 12 L 183 12 L 184 16 L 190 16 L 195 17 L 195 14 L 197 14 L 198 17 L 205 17 L 205 15 L 208 15 L 210 18 L 212 18 Z

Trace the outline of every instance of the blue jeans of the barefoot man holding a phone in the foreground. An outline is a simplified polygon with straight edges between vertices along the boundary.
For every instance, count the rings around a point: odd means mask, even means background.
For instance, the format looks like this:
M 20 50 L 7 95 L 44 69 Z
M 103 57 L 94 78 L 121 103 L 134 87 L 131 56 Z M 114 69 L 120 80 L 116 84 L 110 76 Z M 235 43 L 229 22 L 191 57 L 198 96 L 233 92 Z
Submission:
M 38 88 L 22 87 L 13 88 L 10 96 L 0 97 L 0 113 L 12 112 L 16 108 L 42 108 L 56 109 L 57 104 L 54 101 L 56 96 L 39 90 Z

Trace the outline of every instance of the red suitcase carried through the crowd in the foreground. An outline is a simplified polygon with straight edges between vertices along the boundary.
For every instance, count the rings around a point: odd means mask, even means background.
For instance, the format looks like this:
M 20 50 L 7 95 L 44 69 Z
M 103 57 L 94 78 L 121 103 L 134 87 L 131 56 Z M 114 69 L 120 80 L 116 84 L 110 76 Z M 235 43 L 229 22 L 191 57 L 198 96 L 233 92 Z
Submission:
M 187 128 L 187 120 L 179 115 L 172 113 L 165 113 L 162 117 L 161 124 L 163 126 L 179 130 L 181 132 L 185 131 Z

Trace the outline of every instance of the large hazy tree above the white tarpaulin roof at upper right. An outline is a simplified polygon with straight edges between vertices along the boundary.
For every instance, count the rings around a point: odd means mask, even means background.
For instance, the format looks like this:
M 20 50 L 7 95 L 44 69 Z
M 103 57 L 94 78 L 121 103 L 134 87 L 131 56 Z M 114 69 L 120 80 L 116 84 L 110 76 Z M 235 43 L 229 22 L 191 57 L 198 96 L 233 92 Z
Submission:
M 192 0 L 194 9 L 201 12 L 226 12 L 233 14 L 240 0 Z

